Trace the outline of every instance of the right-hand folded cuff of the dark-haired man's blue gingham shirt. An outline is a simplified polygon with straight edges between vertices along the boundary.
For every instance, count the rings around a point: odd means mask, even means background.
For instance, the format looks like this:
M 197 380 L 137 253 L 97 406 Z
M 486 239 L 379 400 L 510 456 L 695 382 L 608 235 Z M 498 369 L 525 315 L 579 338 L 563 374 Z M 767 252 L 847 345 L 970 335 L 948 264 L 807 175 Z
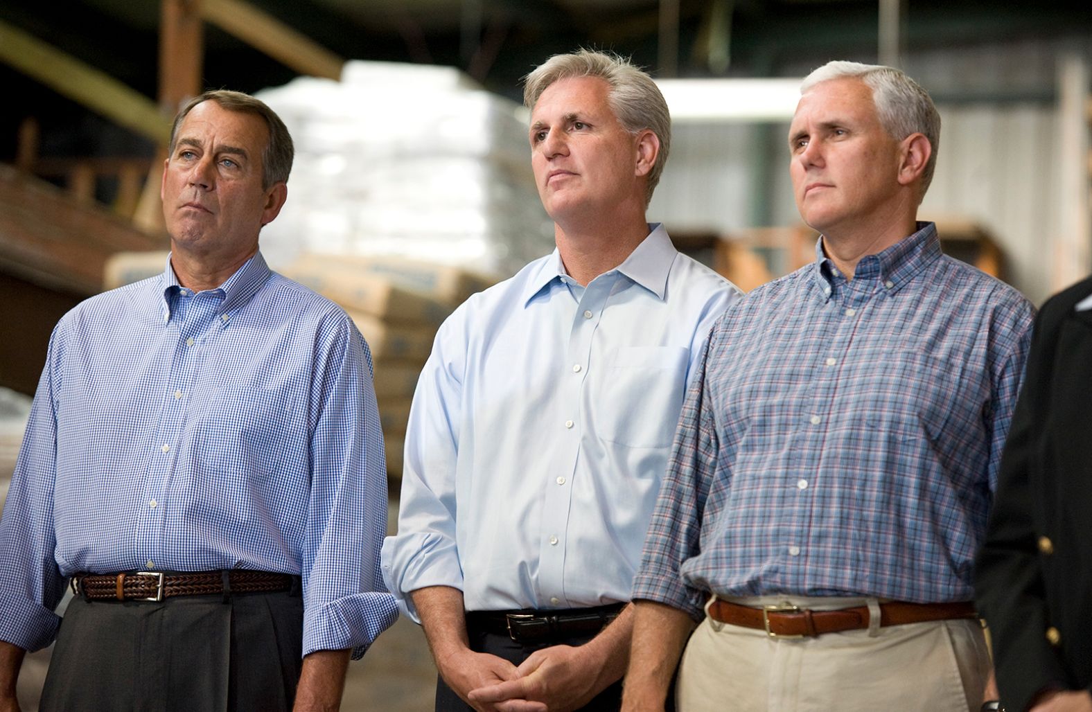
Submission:
M 397 617 L 394 596 L 373 591 L 308 608 L 304 612 L 304 655 L 352 648 L 353 660 L 358 660 Z

